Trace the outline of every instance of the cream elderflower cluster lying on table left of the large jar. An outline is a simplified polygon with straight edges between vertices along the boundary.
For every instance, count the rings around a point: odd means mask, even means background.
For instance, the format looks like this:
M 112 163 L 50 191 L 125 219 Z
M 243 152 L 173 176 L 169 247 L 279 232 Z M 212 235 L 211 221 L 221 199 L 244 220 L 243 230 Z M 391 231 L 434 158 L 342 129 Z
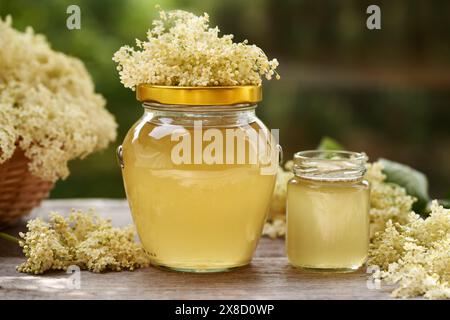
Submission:
M 68 218 L 50 213 L 49 222 L 30 220 L 28 232 L 20 233 L 20 246 L 27 261 L 20 272 L 41 274 L 66 270 L 70 265 L 102 272 L 134 270 L 149 265 L 144 249 L 134 241 L 132 226 L 112 227 L 93 211 L 72 211 Z

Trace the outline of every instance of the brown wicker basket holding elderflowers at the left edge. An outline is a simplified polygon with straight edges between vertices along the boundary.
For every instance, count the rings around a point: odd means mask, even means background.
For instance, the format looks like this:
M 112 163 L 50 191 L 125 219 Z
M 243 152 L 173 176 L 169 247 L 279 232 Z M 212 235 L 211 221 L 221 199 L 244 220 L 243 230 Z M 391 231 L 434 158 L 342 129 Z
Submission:
M 53 183 L 28 171 L 29 159 L 22 150 L 0 164 L 0 228 L 16 222 L 47 198 Z

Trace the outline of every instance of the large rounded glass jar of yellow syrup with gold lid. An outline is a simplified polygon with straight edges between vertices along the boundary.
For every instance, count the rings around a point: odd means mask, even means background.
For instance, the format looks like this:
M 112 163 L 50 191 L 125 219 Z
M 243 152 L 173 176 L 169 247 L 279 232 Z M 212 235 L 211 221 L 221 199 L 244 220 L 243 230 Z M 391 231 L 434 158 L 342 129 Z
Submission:
M 144 114 L 120 153 L 128 202 L 152 263 L 193 272 L 248 264 L 278 166 L 273 135 L 255 115 L 261 87 L 137 90 Z

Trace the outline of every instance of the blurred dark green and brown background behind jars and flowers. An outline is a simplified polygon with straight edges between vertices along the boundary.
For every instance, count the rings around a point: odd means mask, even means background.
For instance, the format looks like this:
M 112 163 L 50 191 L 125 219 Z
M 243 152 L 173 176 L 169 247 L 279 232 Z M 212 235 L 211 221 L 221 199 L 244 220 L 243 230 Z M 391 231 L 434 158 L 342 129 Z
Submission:
M 67 6 L 81 8 L 81 30 L 66 28 Z M 450 197 L 450 1 L 338 0 L 0 0 L 0 16 L 32 26 L 54 49 L 82 59 L 119 123 L 108 150 L 70 163 L 53 198 L 124 197 L 114 149 L 142 108 L 122 87 L 111 60 L 144 39 L 155 4 L 208 12 L 211 24 L 249 39 L 280 61 L 257 112 L 280 129 L 285 157 L 331 136 L 425 172 L 433 197 Z M 382 29 L 366 28 L 378 4 Z

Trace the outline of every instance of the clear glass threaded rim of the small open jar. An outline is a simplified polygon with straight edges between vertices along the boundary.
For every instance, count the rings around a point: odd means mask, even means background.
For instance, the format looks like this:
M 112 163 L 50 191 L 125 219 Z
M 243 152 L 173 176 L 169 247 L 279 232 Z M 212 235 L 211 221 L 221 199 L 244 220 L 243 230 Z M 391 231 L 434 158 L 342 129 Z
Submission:
M 294 174 L 319 181 L 360 180 L 366 172 L 367 155 L 343 150 L 306 150 L 294 154 Z

